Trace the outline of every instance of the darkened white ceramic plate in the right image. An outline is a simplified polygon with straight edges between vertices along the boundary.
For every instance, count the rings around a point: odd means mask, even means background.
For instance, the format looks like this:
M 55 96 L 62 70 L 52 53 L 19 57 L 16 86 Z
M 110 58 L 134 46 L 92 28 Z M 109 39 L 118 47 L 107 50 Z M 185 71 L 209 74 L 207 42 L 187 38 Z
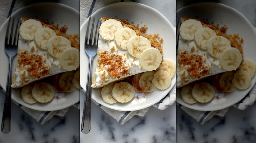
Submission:
M 199 19 L 208 19 L 214 22 L 214 25 L 219 24 L 219 27 L 228 27 L 226 33 L 237 34 L 244 39 L 242 46 L 244 47 L 244 59 L 249 59 L 255 63 L 256 57 L 256 43 L 255 32 L 252 24 L 240 12 L 234 8 L 219 3 L 196 3 L 177 10 L 176 20 L 181 17 L 193 17 Z M 214 111 L 224 109 L 232 106 L 241 99 L 252 89 L 256 81 L 256 76 L 252 78 L 251 86 L 246 90 L 235 90 L 231 93 L 216 94 L 209 103 L 195 103 L 187 104 L 180 98 L 180 91 L 177 90 L 176 100 L 181 105 L 199 111 Z

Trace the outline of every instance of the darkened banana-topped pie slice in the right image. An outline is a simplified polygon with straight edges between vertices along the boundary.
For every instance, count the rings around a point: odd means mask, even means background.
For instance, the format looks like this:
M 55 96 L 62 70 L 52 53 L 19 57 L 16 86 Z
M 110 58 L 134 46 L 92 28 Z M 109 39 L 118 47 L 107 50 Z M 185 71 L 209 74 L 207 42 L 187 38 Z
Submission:
M 179 29 L 177 87 L 183 87 L 218 73 L 236 70 L 240 65 L 243 60 L 243 48 L 235 36 L 224 34 L 226 27 L 218 28 L 207 20 L 186 17 L 181 18 L 181 23 L 183 25 L 181 24 Z M 226 41 L 224 42 L 223 39 Z M 222 53 L 224 55 L 223 51 L 227 48 L 238 49 L 239 55 L 241 54 L 239 58 L 230 56 L 234 62 L 237 62 L 236 68 L 228 69 L 228 66 L 224 65 L 220 55 Z

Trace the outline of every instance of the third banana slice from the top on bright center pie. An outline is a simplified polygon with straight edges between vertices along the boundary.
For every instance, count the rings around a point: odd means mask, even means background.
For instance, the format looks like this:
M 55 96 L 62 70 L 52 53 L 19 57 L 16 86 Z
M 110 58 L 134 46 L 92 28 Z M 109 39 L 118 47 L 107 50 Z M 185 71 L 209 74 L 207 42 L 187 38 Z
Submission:
M 132 56 L 139 58 L 140 54 L 151 47 L 150 41 L 143 36 L 134 36 L 129 38 L 126 44 L 127 51 Z

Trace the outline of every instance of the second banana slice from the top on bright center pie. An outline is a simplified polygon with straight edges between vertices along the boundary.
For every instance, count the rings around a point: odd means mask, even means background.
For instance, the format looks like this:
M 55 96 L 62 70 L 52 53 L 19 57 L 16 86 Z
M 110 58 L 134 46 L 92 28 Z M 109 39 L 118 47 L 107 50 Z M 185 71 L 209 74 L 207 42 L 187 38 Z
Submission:
M 114 37 L 117 48 L 119 48 L 120 50 L 127 50 L 127 41 L 134 36 L 136 36 L 136 32 L 129 27 L 123 27 L 118 29 Z

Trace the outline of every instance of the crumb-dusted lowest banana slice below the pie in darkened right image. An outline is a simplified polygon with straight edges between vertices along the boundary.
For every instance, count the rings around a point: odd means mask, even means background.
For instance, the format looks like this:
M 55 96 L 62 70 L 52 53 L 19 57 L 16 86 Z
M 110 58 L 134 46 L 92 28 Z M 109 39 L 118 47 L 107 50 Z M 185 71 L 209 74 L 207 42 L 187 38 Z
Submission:
M 211 84 L 207 82 L 195 83 L 192 89 L 192 96 L 201 103 L 209 102 L 213 99 L 215 90 Z

